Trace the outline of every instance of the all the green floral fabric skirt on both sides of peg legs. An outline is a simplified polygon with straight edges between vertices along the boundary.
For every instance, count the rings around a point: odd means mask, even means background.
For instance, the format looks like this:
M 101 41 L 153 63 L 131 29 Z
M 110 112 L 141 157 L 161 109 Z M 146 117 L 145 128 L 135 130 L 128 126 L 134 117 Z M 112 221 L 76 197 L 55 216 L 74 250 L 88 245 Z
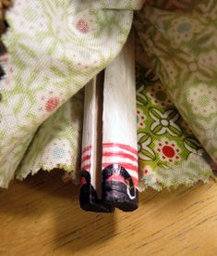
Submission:
M 79 169 L 82 87 L 120 52 L 134 10 L 140 189 L 208 181 L 217 162 L 217 4 L 187 2 L 14 1 L 0 58 L 0 186 Z

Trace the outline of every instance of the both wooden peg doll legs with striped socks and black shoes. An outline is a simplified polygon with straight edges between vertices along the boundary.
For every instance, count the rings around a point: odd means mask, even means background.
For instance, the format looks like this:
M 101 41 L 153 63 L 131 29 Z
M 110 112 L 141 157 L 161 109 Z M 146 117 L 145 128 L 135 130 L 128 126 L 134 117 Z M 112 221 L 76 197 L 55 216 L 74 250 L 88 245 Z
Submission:
M 133 35 L 85 87 L 80 206 L 112 212 L 138 208 L 138 151 Z

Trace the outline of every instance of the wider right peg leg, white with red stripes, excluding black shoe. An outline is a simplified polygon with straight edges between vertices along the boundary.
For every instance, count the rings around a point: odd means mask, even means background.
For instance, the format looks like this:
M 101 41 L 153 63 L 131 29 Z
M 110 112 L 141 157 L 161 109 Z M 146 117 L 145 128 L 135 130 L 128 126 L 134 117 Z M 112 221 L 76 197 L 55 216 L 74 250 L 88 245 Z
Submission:
M 128 173 L 134 173 L 134 185 L 137 187 L 136 110 L 134 39 L 130 34 L 122 52 L 104 72 L 102 169 L 108 164 L 122 165 Z M 108 145 L 111 146 L 108 148 Z M 107 150 L 110 150 L 110 157 L 106 155 Z M 116 150 L 119 151 L 118 156 Z M 136 157 L 129 160 L 133 152 L 136 152 Z

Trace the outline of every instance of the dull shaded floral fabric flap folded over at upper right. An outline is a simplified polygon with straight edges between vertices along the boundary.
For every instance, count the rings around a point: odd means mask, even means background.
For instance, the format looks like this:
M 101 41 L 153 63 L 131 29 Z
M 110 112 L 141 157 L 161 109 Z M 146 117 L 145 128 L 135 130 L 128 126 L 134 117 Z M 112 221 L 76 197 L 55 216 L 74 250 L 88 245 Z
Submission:
M 176 13 L 145 6 L 138 16 L 139 36 L 154 70 L 175 107 L 217 161 L 217 27 L 213 8 L 201 3 L 191 13 Z

